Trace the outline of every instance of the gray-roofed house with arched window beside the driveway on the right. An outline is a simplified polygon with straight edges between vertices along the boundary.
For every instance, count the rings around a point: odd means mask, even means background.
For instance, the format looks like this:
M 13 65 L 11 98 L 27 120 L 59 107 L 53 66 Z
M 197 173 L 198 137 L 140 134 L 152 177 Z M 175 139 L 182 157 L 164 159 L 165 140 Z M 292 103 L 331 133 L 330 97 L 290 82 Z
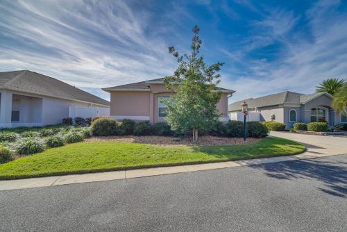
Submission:
M 301 94 L 298 92 L 279 92 L 255 99 L 245 99 L 229 105 L 233 117 L 241 111 L 241 103 L 246 101 L 250 112 L 259 113 L 260 121 L 271 121 L 293 127 L 295 122 L 328 122 L 334 124 L 347 123 L 346 116 L 332 109 L 332 95 L 327 92 Z

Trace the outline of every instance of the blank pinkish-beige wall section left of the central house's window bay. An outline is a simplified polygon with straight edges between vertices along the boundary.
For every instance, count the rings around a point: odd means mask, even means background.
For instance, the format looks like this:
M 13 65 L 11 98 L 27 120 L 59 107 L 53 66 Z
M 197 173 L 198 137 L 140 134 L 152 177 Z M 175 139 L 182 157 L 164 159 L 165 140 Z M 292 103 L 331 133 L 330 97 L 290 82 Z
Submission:
M 149 121 L 150 92 L 111 92 L 110 116 L 115 119 Z

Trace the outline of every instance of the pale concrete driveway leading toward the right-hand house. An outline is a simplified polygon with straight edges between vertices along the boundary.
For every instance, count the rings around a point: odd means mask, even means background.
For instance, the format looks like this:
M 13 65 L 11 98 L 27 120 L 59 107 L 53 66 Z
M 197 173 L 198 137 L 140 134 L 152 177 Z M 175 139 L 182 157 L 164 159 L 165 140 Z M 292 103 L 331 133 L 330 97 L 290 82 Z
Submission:
M 300 142 L 307 147 L 308 154 L 316 156 L 347 154 L 347 138 L 343 137 L 303 135 L 280 131 L 271 131 L 270 135 Z

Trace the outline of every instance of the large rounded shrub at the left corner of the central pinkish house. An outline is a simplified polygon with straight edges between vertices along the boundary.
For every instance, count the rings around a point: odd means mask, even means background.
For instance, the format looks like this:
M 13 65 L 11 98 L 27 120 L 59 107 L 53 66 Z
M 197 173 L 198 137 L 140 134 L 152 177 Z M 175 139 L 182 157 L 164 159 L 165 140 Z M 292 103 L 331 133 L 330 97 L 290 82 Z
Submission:
M 92 133 L 96 136 L 117 135 L 118 122 L 107 117 L 101 117 L 92 122 Z

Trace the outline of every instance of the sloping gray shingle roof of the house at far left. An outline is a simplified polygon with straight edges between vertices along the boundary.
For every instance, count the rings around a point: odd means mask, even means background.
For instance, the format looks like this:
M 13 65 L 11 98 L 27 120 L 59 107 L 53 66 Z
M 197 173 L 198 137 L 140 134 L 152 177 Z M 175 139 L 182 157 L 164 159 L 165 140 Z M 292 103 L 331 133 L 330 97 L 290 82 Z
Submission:
M 0 72 L 0 88 L 110 106 L 109 101 L 96 97 L 89 92 L 80 90 L 56 78 L 28 70 Z

